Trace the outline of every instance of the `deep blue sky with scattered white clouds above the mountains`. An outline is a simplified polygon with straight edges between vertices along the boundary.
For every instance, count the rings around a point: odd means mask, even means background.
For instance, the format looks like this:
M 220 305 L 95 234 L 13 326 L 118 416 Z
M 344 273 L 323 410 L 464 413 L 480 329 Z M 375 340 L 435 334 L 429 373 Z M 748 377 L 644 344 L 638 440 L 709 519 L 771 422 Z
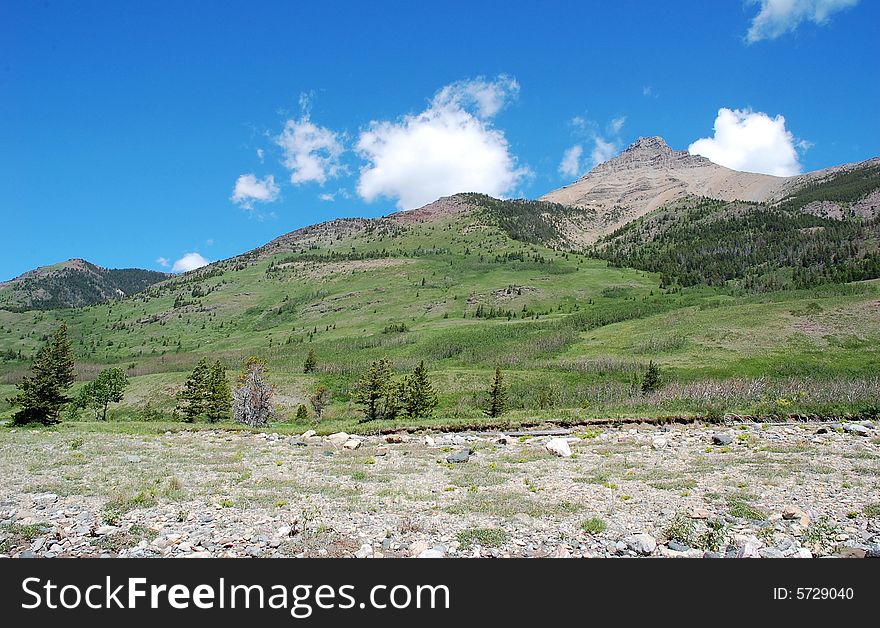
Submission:
M 537 197 L 646 135 L 778 174 L 877 156 L 878 4 L 7 0 L 0 279 Z

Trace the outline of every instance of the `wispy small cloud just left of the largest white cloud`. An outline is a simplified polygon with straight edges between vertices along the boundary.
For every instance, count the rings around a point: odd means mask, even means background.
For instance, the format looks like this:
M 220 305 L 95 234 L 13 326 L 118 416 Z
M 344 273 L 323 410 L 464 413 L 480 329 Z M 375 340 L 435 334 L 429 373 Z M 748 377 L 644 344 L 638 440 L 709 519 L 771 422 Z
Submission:
M 284 151 L 284 166 L 294 185 L 315 181 L 321 185 L 343 172 L 340 156 L 345 150 L 340 134 L 309 119 L 308 99 L 300 99 L 306 111 L 299 120 L 288 120 L 275 142 Z

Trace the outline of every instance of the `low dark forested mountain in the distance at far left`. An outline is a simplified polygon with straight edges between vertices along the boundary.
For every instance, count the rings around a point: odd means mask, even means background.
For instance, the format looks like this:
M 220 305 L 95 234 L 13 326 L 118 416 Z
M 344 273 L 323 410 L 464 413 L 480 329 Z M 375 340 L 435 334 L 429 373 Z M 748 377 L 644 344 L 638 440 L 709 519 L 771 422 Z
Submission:
M 48 310 L 94 305 L 140 292 L 170 276 L 139 268 L 101 268 L 83 259 L 70 259 L 0 283 L 0 308 Z

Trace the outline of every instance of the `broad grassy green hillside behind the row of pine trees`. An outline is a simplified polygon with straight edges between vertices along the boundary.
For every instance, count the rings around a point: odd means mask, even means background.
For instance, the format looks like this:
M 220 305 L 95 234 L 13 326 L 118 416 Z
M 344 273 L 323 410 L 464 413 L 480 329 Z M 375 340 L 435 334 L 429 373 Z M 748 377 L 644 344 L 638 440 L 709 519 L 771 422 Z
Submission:
M 318 225 L 111 303 L 0 310 L 0 398 L 65 321 L 81 379 L 106 365 L 132 378 L 112 412 L 121 419 L 170 418 L 203 356 L 233 371 L 248 355 L 268 360 L 281 422 L 295 423 L 297 406 L 327 386 L 322 431 L 388 427 L 358 426 L 351 401 L 353 382 L 382 357 L 400 373 L 425 360 L 440 393 L 433 422 L 444 425 L 489 421 L 496 366 L 512 423 L 716 407 L 855 413 L 880 402 L 878 281 L 771 293 L 682 286 L 539 243 L 574 246 L 558 225 L 586 216 L 455 200 L 469 209 Z M 538 206 L 543 218 L 529 211 Z M 303 374 L 309 350 L 317 368 Z M 642 394 L 636 380 L 650 361 L 664 385 Z M 9 413 L 0 402 L 0 416 Z

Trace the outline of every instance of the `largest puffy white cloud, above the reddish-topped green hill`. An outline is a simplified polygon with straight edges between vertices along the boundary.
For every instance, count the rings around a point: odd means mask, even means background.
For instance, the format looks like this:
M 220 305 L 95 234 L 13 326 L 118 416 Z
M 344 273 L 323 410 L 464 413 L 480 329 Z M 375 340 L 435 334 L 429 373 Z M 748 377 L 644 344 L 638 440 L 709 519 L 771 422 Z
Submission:
M 459 81 L 441 89 L 422 113 L 373 121 L 358 138 L 357 193 L 412 209 L 457 192 L 504 196 L 530 174 L 517 166 L 504 133 L 489 120 L 516 95 L 515 80 Z

